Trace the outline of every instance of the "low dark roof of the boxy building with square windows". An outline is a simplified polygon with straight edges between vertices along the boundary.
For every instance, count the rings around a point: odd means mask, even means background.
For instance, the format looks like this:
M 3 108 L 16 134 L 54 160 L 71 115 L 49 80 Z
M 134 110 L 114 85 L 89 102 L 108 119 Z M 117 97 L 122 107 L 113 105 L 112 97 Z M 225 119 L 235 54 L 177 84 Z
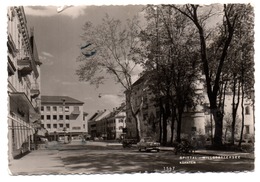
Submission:
M 81 102 L 77 99 L 71 98 L 69 96 L 47 96 L 47 95 L 42 95 L 41 96 L 41 103 L 56 103 L 56 104 L 62 104 L 63 100 L 65 100 L 66 104 L 84 104 L 84 102 Z

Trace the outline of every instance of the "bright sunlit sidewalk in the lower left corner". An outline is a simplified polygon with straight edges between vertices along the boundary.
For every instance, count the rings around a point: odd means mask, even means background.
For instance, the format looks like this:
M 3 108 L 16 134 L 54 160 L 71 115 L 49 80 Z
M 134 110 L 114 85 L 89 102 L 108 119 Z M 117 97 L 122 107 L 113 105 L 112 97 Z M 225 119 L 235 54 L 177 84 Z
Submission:
M 9 163 L 10 175 L 62 174 L 66 172 L 58 150 L 34 150 L 18 160 Z M 25 167 L 26 166 L 26 167 Z

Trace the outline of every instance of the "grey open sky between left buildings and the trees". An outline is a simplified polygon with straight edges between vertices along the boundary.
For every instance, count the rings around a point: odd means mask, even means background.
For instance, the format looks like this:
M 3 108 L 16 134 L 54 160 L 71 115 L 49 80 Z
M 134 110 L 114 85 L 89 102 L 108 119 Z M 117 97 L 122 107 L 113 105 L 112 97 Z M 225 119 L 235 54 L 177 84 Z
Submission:
M 86 21 L 100 24 L 107 13 L 121 21 L 137 15 L 142 6 L 72 6 L 57 13 L 57 6 L 24 6 L 28 28 L 33 27 L 41 65 L 41 95 L 67 95 L 83 101 L 84 111 L 113 110 L 124 100 L 123 88 L 108 79 L 98 88 L 80 82 L 75 74 L 82 27 Z M 133 75 L 138 77 L 141 69 Z M 101 94 L 101 97 L 98 97 Z

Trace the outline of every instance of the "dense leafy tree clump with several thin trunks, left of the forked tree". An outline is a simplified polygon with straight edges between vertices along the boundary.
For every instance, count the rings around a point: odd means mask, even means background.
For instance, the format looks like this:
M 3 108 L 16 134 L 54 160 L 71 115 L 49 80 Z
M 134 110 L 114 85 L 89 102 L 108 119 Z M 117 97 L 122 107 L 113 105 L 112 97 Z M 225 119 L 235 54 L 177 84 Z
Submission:
M 194 82 L 198 78 L 196 49 L 191 47 L 192 29 L 188 18 L 170 6 L 146 7 L 147 27 L 140 34 L 140 62 L 149 72 L 149 86 L 157 98 L 162 116 L 162 143 L 167 142 L 171 117 L 171 141 L 177 120 L 177 141 L 181 137 L 182 114 L 194 103 Z M 161 137 L 160 137 L 161 139 Z

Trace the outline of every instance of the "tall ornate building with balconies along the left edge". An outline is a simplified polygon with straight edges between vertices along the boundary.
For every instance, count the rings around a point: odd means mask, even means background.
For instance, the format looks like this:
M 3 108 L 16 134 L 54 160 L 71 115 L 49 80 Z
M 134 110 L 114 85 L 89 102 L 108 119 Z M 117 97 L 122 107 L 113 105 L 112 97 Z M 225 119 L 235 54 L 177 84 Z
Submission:
M 30 150 L 40 134 L 40 65 L 23 7 L 8 7 L 9 159 Z

